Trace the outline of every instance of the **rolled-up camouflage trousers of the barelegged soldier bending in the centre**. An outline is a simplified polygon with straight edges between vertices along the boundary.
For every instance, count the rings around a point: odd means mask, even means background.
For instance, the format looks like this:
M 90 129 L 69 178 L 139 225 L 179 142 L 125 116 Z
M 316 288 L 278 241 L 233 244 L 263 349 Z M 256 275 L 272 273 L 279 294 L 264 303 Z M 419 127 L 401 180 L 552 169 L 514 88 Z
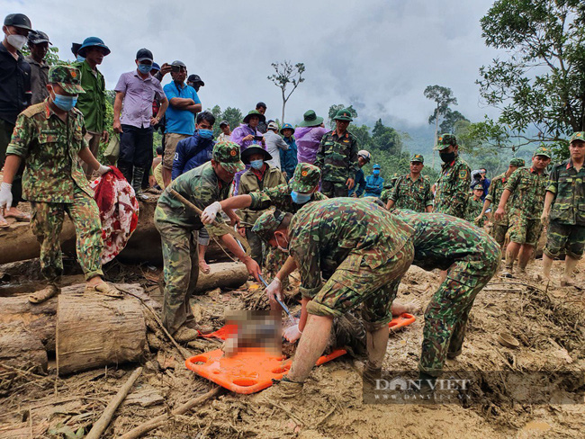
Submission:
M 374 331 L 392 320 L 392 301 L 412 264 L 414 247 L 403 246 L 382 265 L 370 266 L 363 254 L 350 253 L 307 305 L 316 316 L 339 317 L 362 305 L 365 328 Z

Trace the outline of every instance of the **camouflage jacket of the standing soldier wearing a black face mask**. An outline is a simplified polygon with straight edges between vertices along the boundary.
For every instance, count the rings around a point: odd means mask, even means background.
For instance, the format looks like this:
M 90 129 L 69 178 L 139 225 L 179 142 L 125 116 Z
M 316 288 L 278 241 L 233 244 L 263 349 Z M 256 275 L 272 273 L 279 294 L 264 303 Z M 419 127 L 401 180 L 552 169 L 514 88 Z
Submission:
M 437 180 L 434 211 L 464 218 L 471 183 L 471 170 L 461 157 L 444 164 Z

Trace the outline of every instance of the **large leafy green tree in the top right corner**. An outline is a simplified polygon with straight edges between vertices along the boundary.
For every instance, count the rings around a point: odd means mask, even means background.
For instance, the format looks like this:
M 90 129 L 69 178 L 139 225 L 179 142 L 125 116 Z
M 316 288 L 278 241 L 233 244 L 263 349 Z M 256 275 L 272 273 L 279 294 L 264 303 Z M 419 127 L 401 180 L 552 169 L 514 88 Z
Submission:
M 582 0 L 497 0 L 481 24 L 486 45 L 504 51 L 477 81 L 501 110 L 501 130 L 523 144 L 550 142 L 567 157 L 566 137 L 585 130 Z

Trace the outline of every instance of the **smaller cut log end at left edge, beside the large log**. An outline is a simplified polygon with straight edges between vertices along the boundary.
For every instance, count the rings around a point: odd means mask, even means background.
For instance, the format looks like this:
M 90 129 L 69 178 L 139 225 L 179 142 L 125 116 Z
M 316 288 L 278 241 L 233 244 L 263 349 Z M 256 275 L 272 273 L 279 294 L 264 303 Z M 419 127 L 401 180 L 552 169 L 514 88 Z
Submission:
M 23 323 L 12 322 L 0 323 L 0 363 L 24 371 L 47 372 L 49 360 L 39 337 Z

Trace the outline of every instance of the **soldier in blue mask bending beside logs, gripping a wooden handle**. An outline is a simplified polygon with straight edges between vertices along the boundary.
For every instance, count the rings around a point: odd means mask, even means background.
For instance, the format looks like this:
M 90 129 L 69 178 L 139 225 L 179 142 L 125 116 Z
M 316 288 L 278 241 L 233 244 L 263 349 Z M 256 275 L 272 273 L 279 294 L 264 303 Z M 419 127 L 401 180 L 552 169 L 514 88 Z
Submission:
M 175 199 L 171 190 L 184 196 L 199 209 L 220 211 L 220 201 L 229 195 L 234 175 L 244 169 L 240 161 L 239 146 L 233 142 L 218 142 L 213 147 L 211 162 L 187 171 L 169 184 L 158 198 L 155 226 L 162 241 L 163 276 L 165 292 L 163 325 L 178 342 L 187 342 L 197 336 L 197 325 L 189 300 L 199 274 L 197 256 L 198 230 L 202 218 Z M 230 219 L 235 221 L 233 212 Z M 260 268 L 256 261 L 238 246 L 226 230 L 217 224 L 206 226 L 212 237 L 220 237 L 229 251 L 247 266 L 247 271 L 258 279 Z

